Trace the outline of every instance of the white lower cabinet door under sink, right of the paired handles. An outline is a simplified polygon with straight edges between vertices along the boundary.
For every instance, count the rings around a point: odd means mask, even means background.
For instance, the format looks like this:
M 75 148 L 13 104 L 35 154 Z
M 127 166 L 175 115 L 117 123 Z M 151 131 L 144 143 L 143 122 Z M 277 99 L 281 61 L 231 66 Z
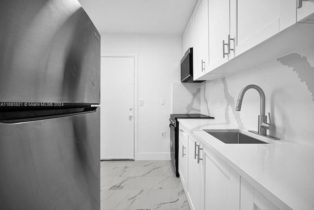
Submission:
M 239 210 L 240 175 L 222 159 L 204 150 L 205 210 Z

